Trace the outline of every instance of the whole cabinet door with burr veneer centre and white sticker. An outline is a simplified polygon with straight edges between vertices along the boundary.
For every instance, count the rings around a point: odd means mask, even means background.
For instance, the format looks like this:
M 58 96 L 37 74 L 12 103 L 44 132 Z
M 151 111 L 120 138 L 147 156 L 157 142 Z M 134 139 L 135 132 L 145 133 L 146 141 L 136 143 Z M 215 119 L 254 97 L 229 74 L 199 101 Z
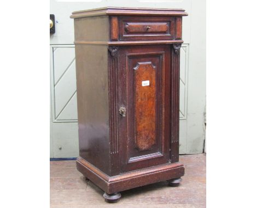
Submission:
M 170 46 L 121 47 L 121 172 L 169 162 Z

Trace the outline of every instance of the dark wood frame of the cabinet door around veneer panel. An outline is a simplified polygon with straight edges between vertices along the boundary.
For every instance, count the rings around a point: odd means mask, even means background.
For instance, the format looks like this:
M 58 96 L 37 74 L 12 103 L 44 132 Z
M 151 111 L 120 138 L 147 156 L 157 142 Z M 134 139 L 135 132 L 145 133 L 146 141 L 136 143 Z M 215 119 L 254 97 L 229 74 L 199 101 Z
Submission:
M 170 160 L 170 46 L 126 46 L 119 47 L 119 106 L 126 106 L 127 117 L 119 118 L 119 138 L 122 154 L 122 172 L 147 168 Z M 139 150 L 136 146 L 136 66 L 151 62 L 155 66 L 155 142 L 149 149 Z M 134 69 L 135 68 L 135 69 Z M 152 69 L 152 68 L 149 68 Z M 165 83 L 165 84 L 164 84 Z M 141 83 L 140 83 L 141 84 Z M 152 110 L 150 109 L 152 112 Z M 163 113 L 165 111 L 165 114 Z M 145 121 L 145 120 L 144 120 Z M 153 122 L 152 119 L 148 122 Z M 146 125 L 141 123 L 139 125 Z M 142 140 L 146 142 L 145 140 Z

